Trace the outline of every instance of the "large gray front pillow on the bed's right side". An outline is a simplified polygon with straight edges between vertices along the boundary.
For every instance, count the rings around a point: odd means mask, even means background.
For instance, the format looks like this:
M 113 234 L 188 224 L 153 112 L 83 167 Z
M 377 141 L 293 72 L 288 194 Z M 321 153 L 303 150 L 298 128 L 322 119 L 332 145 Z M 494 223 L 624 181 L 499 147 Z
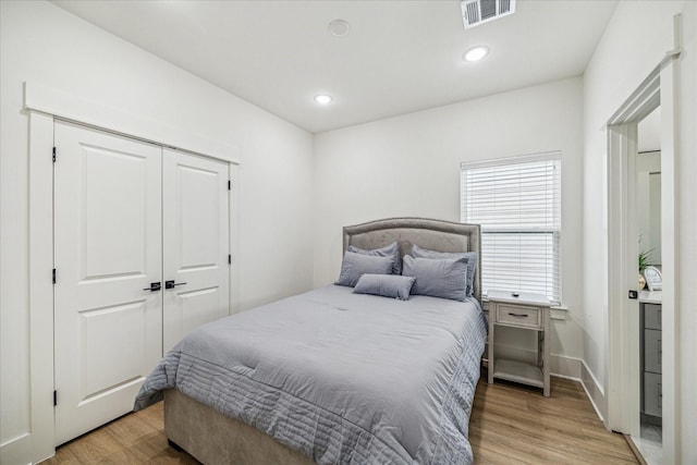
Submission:
M 467 298 L 465 258 L 414 258 L 405 255 L 402 274 L 416 278 L 412 294 L 461 302 Z

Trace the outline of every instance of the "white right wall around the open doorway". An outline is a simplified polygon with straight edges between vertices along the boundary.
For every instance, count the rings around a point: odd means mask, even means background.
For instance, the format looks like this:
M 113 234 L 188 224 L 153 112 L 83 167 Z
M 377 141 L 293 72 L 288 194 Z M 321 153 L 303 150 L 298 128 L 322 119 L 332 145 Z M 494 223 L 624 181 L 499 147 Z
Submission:
M 680 461 L 697 463 L 697 3 L 694 1 L 625 1 L 617 4 L 584 75 L 584 329 L 589 370 L 607 386 L 607 139 L 602 127 L 613 112 L 673 49 L 673 15 L 683 14 L 683 53 L 676 76 L 676 319 L 680 328 L 677 415 L 681 420 Z M 662 112 L 662 118 L 665 114 Z M 665 180 L 663 180 L 665 181 Z M 665 241 L 667 238 L 663 237 Z M 601 409 L 602 393 L 597 399 Z M 676 458 L 678 458 L 676 457 Z

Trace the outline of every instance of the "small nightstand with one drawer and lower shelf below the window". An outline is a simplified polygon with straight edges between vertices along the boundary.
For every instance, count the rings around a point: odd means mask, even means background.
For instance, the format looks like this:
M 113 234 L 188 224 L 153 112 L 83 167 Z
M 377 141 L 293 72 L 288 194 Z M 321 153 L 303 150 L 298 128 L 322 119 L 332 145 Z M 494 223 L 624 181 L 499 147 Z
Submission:
M 549 397 L 549 307 L 552 305 L 540 294 L 489 291 L 489 384 L 493 378 L 542 388 Z M 493 350 L 494 328 L 508 326 L 537 331 L 537 364 L 525 364 L 497 358 Z

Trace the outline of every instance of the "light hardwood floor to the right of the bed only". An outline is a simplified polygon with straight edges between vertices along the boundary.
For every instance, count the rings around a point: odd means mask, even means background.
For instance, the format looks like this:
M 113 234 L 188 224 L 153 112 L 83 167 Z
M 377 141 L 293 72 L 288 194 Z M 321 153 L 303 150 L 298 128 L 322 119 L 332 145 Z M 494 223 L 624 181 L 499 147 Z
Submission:
M 469 442 L 479 464 L 638 463 L 624 437 L 606 430 L 580 383 L 555 377 L 547 399 L 540 389 L 480 379 Z

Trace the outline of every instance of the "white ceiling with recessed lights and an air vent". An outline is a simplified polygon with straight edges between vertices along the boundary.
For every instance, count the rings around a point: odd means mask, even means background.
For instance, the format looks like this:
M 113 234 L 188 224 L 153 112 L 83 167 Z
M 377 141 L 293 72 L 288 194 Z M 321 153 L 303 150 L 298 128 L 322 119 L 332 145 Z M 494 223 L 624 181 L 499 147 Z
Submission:
M 517 0 L 465 30 L 458 0 L 54 3 L 311 133 L 578 76 L 616 5 Z

